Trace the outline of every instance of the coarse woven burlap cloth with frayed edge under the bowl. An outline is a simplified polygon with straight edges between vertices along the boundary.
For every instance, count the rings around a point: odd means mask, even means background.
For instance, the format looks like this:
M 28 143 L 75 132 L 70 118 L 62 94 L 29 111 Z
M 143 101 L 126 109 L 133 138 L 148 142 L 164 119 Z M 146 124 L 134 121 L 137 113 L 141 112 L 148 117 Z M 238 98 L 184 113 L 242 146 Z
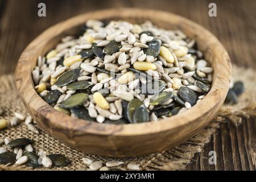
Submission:
M 126 170 L 127 163 L 134 162 L 141 166 L 142 170 L 180 170 L 191 163 L 193 156 L 197 152 L 201 152 L 204 145 L 209 142 L 212 134 L 216 132 L 220 122 L 232 122 L 238 126 L 242 122 L 243 117 L 250 117 L 256 115 L 256 73 L 253 69 L 245 69 L 233 67 L 234 80 L 241 80 L 245 83 L 246 92 L 239 98 L 237 105 L 229 106 L 224 105 L 218 111 L 218 115 L 209 126 L 205 127 L 195 137 L 189 139 L 187 142 L 180 144 L 168 151 L 163 151 L 157 154 L 141 156 L 138 158 L 124 158 L 118 159 L 125 162 L 118 169 Z M 10 121 L 14 112 L 18 111 L 27 114 L 21 100 L 19 99 L 18 92 L 16 91 L 13 75 L 3 75 L 0 77 L 0 106 L 5 110 L 2 118 Z M 1 118 L 1 117 L 0 117 Z M 67 146 L 59 140 L 52 138 L 43 130 L 39 129 L 40 134 L 35 134 L 29 131 L 25 123 L 21 123 L 17 127 L 8 127 L 6 130 L 0 131 L 0 139 L 9 138 L 30 138 L 34 140 L 34 148 L 36 151 L 46 151 L 47 154 L 64 154 L 69 158 L 72 163 L 67 167 L 56 168 L 51 170 L 84 170 L 88 167 L 82 163 L 82 158 L 88 157 L 93 160 L 102 160 L 107 162 L 114 158 L 105 158 L 97 155 L 90 155 L 84 152 L 77 151 L 76 149 Z M 255 161 L 255 151 L 253 160 Z M 27 166 L 3 166 L 0 165 L 0 170 L 32 170 Z M 36 170 L 47 170 L 46 168 L 39 168 Z

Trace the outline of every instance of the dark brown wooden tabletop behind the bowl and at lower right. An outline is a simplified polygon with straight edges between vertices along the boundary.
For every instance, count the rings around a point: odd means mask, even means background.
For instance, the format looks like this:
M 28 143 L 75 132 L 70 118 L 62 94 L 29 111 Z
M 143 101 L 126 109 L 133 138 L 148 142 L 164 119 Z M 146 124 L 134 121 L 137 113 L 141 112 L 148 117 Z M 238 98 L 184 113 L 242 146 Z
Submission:
M 46 3 L 46 18 L 37 14 L 40 2 Z M 217 4 L 217 17 L 208 16 L 210 2 Z M 48 27 L 77 14 L 110 7 L 159 9 L 185 16 L 216 35 L 233 63 L 256 68 L 255 0 L 0 0 L 0 75 L 14 72 L 23 49 Z M 222 125 L 187 169 L 255 170 L 256 123 L 255 118 L 246 120 L 238 129 L 228 123 Z M 212 150 L 217 152 L 217 165 L 208 163 Z

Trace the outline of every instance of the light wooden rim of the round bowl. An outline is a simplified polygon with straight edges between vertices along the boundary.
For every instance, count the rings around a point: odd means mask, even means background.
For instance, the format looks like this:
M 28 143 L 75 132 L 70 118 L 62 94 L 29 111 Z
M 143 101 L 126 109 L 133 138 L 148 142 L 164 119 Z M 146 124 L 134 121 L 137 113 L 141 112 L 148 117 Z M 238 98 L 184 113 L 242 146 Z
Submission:
M 130 11 L 134 12 L 134 15 L 128 14 Z M 24 67 L 24 63 L 29 63 L 30 57 L 28 55 L 31 54 L 32 51 L 34 51 L 34 54 L 36 52 L 40 51 L 39 49 L 36 49 L 36 46 L 38 46 L 38 42 L 42 41 L 46 38 L 50 41 L 55 37 L 55 35 L 59 35 L 61 32 L 64 32 L 64 30 L 67 30 L 63 27 L 65 25 L 69 24 L 69 28 L 78 26 L 79 24 L 82 24 L 82 18 L 84 18 L 84 23 L 86 20 L 90 18 L 97 19 L 99 18 L 100 14 L 106 14 L 108 13 L 108 17 L 110 18 L 114 16 L 114 12 L 120 12 L 119 15 L 120 19 L 124 16 L 131 16 L 131 18 L 136 18 L 136 16 L 141 16 L 143 11 L 147 11 L 151 13 L 152 15 L 155 13 L 158 13 L 159 15 L 162 15 L 163 17 L 167 17 L 170 15 L 173 18 L 178 19 L 180 22 L 185 22 L 189 24 L 190 26 L 197 27 L 201 31 L 204 31 L 204 34 L 208 34 L 210 36 L 210 40 L 212 41 L 210 44 L 213 46 L 216 46 L 220 49 L 220 52 L 224 54 L 225 59 L 223 60 L 223 63 L 225 67 L 221 67 L 221 69 L 225 69 L 228 74 L 226 74 L 226 80 L 221 80 L 221 78 L 218 76 L 219 72 L 221 72 L 220 69 L 214 69 L 214 80 L 212 82 L 212 88 L 210 89 L 209 93 L 205 98 L 199 103 L 193 106 L 191 109 L 185 111 L 184 113 L 180 113 L 178 115 L 174 115 L 170 118 L 161 119 L 157 122 L 147 122 L 147 123 L 135 123 L 135 124 L 123 124 L 123 125 L 114 125 L 114 124 L 101 124 L 97 122 L 90 122 L 85 121 L 82 119 L 73 118 L 69 115 L 65 115 L 63 113 L 60 113 L 59 111 L 56 111 L 52 106 L 48 105 L 39 95 L 36 93 L 34 89 L 34 84 L 32 82 L 32 76 L 31 76 L 31 68 L 30 67 Z M 101 19 L 105 19 L 106 17 L 101 17 Z M 150 18 L 148 18 L 150 19 Z M 53 32 L 55 32 L 53 34 Z M 47 42 L 45 40 L 45 42 Z M 43 46 L 43 44 L 40 44 L 39 46 Z M 35 52 L 36 51 L 36 52 Z M 33 60 L 36 61 L 36 60 Z M 20 81 L 23 80 L 23 81 Z M 130 136 L 130 135 L 148 135 L 153 133 L 159 133 L 167 130 L 173 130 L 178 129 L 179 127 L 188 125 L 190 122 L 194 121 L 195 119 L 201 117 L 202 115 L 208 113 L 210 110 L 214 108 L 214 106 L 218 104 L 222 104 L 226 93 L 228 92 L 229 88 L 229 82 L 231 80 L 231 64 L 230 59 L 228 56 L 228 53 L 226 52 L 225 48 L 222 46 L 222 44 L 218 41 L 218 39 L 210 33 L 208 30 L 206 30 L 204 27 L 201 27 L 199 24 L 192 22 L 192 20 L 189 20 L 187 18 L 184 18 L 182 16 L 167 13 L 164 11 L 159 10 L 146 10 L 146 9 L 137 9 L 137 8 L 117 8 L 117 9 L 106 9 L 106 10 L 98 10 L 98 11 L 92 11 L 89 13 L 77 15 L 75 17 L 69 18 L 67 20 L 64 20 L 60 23 L 55 24 L 52 27 L 49 27 L 46 31 L 44 31 L 42 34 L 40 34 L 37 38 L 35 38 L 22 52 L 22 55 L 19 58 L 18 65 L 16 67 L 15 72 L 15 82 L 16 87 L 19 90 L 20 97 L 22 98 L 22 101 L 24 105 L 27 107 L 27 109 L 30 112 L 34 112 L 37 114 L 40 114 L 44 117 L 45 122 L 48 126 L 54 126 L 55 128 L 59 129 L 71 129 L 72 131 L 78 131 L 79 133 L 88 133 L 88 134 L 94 134 L 94 135 L 112 135 L 112 136 Z M 24 88 L 26 85 L 25 82 L 29 82 L 28 88 Z M 220 88 L 219 84 L 222 85 Z M 30 93 L 23 92 L 24 90 L 29 90 Z M 30 94 L 30 97 L 28 97 L 27 94 Z M 35 106 L 35 102 L 31 102 L 31 98 L 34 98 L 36 100 L 36 103 L 38 106 Z M 212 102 L 216 101 L 216 102 Z M 221 103 L 222 102 L 222 103 Z M 198 111 L 198 107 L 204 108 L 204 110 L 200 111 L 200 113 L 195 113 L 195 111 Z M 43 109 L 42 109 L 43 108 Z M 47 112 L 51 114 L 47 114 Z M 52 117 L 52 114 L 55 114 L 56 117 Z M 188 115 L 189 117 L 188 119 Z M 63 118 L 63 121 L 65 122 L 59 122 L 55 121 L 56 118 Z M 179 121 L 179 122 L 175 122 Z M 76 126 L 71 125 L 71 123 L 77 122 Z

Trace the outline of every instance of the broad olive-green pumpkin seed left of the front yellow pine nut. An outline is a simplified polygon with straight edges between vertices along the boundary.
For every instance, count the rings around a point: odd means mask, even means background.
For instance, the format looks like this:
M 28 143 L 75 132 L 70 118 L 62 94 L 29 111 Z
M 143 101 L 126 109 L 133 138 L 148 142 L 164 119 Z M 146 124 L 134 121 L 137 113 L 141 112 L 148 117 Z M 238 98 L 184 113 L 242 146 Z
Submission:
M 64 109 L 71 109 L 73 107 L 78 107 L 84 104 L 88 100 L 88 94 L 86 93 L 77 93 L 65 100 L 60 107 Z

